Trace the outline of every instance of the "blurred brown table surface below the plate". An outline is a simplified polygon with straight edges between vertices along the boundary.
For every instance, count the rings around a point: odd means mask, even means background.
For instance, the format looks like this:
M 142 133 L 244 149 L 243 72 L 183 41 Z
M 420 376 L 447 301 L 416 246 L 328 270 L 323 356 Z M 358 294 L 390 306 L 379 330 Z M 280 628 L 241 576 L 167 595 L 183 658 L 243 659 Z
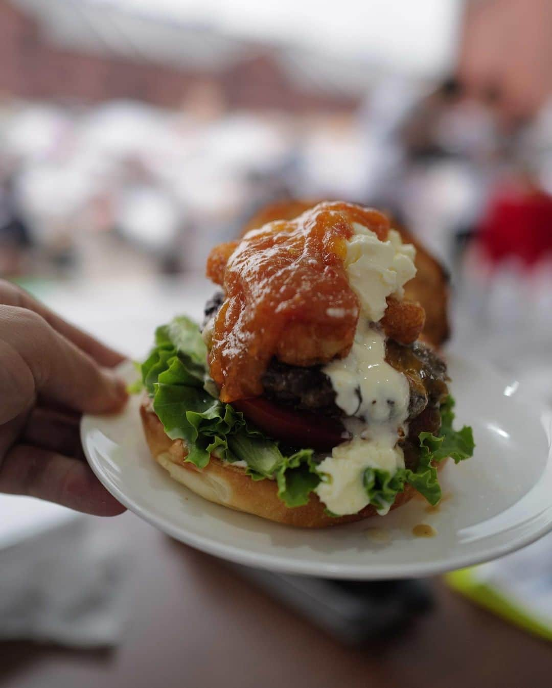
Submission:
M 552 648 L 435 581 L 438 605 L 399 635 L 343 647 L 224 563 L 127 514 L 130 618 L 111 652 L 0 644 L 0 688 L 549 688 Z

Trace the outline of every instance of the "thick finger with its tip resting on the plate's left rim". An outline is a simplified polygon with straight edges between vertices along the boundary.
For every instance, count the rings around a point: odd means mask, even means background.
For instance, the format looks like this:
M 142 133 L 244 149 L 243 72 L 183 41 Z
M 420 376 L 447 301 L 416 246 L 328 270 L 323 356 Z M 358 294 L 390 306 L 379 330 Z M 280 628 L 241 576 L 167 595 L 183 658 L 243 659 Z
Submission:
M 38 314 L 0 306 L 0 324 L 0 389 L 5 393 L 0 415 L 8 413 L 10 393 L 23 400 L 40 393 L 83 413 L 107 413 L 124 405 L 123 380 L 101 368 Z

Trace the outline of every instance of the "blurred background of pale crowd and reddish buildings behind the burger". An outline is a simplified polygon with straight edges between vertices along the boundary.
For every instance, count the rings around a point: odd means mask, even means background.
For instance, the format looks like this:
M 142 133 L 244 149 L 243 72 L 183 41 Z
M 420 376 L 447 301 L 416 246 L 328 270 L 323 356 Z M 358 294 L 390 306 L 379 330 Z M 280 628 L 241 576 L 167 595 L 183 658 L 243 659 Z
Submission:
M 550 0 L 0 0 L 0 277 L 138 357 L 259 206 L 373 204 L 447 266 L 452 348 L 552 403 L 551 27 Z

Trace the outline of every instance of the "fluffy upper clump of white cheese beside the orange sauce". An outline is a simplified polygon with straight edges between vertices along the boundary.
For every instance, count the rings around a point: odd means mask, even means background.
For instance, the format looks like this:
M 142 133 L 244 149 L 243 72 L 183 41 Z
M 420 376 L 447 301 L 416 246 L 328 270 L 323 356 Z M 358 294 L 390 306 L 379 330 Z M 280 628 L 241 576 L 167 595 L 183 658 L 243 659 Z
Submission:
M 358 222 L 353 223 L 353 228 L 344 264 L 350 286 L 360 299 L 362 314 L 377 322 L 383 318 L 385 299 L 402 299 L 405 283 L 416 275 L 416 249 L 412 244 L 403 244 L 394 229 L 389 231 L 388 241 L 380 241 Z

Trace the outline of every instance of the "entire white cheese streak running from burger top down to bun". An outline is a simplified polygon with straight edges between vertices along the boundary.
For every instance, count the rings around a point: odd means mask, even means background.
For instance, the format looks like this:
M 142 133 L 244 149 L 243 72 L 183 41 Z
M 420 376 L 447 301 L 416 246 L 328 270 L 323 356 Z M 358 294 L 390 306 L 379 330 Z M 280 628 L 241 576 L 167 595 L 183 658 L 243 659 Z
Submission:
M 361 317 L 350 353 L 323 368 L 336 391 L 336 403 L 348 416 L 352 439 L 335 447 L 318 467 L 316 493 L 335 515 L 358 513 L 370 504 L 363 486 L 367 468 L 395 473 L 404 467 L 398 431 L 408 416 L 407 379 L 385 361 L 385 337 L 370 321 L 385 313 L 388 296 L 402 299 L 405 283 L 414 277 L 414 246 L 403 245 L 390 231 L 380 241 L 367 228 L 354 224 L 345 265 L 350 286 L 361 302 Z M 378 510 L 384 515 L 390 504 Z

